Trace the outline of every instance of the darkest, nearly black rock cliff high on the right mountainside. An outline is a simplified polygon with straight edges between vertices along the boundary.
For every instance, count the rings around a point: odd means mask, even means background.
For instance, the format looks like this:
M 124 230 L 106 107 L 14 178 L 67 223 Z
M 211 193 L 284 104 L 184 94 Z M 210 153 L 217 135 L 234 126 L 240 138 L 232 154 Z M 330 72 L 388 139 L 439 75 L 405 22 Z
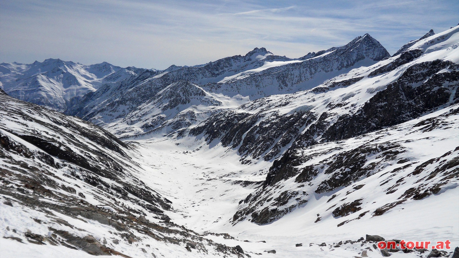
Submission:
M 442 72 L 440 71 L 448 71 Z M 341 140 L 417 118 L 445 104 L 457 103 L 459 64 L 435 60 L 409 67 L 356 114 L 343 115 L 324 133 L 324 140 Z

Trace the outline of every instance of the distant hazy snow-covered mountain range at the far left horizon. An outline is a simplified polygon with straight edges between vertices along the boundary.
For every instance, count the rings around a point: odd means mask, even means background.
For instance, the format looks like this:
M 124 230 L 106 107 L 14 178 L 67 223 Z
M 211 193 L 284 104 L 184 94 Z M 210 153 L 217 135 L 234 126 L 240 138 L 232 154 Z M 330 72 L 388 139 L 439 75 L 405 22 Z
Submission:
M 144 70 L 107 62 L 86 66 L 52 58 L 32 64 L 1 63 L 0 88 L 20 100 L 63 112 L 71 101 L 102 84 L 112 84 Z

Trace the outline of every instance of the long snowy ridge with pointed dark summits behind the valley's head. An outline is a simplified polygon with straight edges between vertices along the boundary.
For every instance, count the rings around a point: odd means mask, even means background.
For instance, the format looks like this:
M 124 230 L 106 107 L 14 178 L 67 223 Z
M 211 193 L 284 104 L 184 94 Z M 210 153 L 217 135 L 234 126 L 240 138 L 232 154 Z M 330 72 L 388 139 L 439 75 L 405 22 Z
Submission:
M 112 85 L 103 86 L 84 96 L 66 113 L 106 124 L 107 129 L 123 137 L 153 132 L 170 134 L 193 126 L 210 114 L 228 110 L 228 107 L 234 108 L 267 95 L 311 89 L 353 68 L 372 65 L 389 56 L 369 34 L 347 45 L 308 53 L 297 59 L 255 48 L 245 56 L 226 57 L 202 66 L 171 66 L 159 73 L 141 73 L 138 79 L 121 82 L 122 87 L 116 90 Z M 180 97 L 180 105 L 174 105 L 173 100 L 164 98 L 162 93 L 168 89 L 178 90 L 179 81 L 188 82 L 179 85 L 195 85 L 191 91 L 200 93 L 194 99 L 201 99 L 193 103 Z M 210 96 L 218 101 L 209 101 Z M 166 112 L 164 107 L 174 111 Z

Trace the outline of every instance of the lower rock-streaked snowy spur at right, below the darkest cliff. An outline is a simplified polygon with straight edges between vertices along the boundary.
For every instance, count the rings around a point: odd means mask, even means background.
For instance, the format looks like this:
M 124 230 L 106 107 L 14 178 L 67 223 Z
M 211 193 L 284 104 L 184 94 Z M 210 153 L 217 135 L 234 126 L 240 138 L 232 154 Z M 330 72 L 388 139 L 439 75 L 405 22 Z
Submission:
M 241 200 L 233 223 L 266 224 L 313 199 L 323 207 L 318 216 L 348 218 L 339 227 L 457 187 L 458 105 L 356 138 L 290 149 Z M 417 146 L 426 138 L 432 149 L 420 156 Z

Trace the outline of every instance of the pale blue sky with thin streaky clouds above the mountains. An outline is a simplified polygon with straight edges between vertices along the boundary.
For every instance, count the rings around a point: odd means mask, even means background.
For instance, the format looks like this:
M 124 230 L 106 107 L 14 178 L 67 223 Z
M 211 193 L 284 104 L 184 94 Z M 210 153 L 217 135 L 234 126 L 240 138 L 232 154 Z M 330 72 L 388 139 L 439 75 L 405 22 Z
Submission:
M 365 33 L 393 54 L 458 23 L 458 0 L 0 0 L 0 62 L 165 69 L 255 47 L 296 58 Z

